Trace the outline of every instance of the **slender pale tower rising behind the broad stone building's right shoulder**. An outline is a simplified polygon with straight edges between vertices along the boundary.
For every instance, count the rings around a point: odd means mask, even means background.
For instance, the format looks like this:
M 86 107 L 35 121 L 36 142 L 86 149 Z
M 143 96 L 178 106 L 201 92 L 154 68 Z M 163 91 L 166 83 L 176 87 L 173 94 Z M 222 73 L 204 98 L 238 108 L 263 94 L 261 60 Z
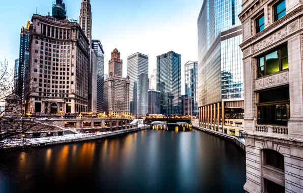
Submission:
M 82 0 L 79 24 L 89 43 L 92 43 L 92 8 L 90 6 L 90 0 Z

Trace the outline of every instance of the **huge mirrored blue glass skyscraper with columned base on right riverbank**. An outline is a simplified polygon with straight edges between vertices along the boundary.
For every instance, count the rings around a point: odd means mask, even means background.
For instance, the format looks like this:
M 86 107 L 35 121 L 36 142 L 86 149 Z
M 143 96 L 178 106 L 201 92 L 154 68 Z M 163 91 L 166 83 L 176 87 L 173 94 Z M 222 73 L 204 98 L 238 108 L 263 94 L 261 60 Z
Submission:
M 240 0 L 206 0 L 198 17 L 200 125 L 241 137 L 244 127 Z

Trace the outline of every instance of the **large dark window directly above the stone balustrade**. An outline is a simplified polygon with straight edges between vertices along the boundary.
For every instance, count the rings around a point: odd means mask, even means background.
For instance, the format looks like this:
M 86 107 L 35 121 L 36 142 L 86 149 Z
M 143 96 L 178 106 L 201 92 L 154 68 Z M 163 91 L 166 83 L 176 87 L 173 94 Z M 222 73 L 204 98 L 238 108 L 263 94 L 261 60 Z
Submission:
M 258 92 L 258 124 L 287 125 L 290 118 L 289 87 Z

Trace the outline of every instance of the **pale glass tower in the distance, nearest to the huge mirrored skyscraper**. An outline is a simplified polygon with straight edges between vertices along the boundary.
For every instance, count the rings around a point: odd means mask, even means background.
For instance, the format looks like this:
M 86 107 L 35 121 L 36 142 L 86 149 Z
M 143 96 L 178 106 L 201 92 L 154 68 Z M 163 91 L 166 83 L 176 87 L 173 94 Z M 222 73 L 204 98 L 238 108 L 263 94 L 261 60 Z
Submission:
M 185 94 L 192 98 L 192 115 L 198 116 L 198 61 L 185 64 Z

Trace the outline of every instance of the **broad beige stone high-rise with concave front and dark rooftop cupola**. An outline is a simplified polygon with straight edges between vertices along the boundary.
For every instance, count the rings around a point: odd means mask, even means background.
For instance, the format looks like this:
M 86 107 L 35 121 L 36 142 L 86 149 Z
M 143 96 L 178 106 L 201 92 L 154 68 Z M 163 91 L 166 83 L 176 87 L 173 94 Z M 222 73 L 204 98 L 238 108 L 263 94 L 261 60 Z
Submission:
M 87 113 L 89 42 L 80 25 L 63 16 L 63 2 L 56 3 L 55 17 L 32 18 L 28 80 L 34 92 L 29 93 L 27 112 Z

